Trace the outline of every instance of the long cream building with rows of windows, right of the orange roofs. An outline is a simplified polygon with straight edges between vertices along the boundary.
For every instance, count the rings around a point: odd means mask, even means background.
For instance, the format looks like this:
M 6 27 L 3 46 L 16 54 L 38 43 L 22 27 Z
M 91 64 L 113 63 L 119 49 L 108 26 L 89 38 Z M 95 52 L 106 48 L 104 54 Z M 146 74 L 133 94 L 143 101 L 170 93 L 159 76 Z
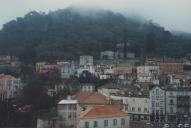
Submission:
M 125 94 L 124 90 L 117 87 L 103 87 L 98 92 L 107 96 L 111 100 L 122 101 L 121 106 L 124 111 L 128 112 L 130 120 L 147 122 L 150 120 L 150 99 L 149 96 L 143 95 L 136 91 Z M 134 95 L 131 95 L 133 93 Z M 136 94 L 137 93 L 137 94 Z

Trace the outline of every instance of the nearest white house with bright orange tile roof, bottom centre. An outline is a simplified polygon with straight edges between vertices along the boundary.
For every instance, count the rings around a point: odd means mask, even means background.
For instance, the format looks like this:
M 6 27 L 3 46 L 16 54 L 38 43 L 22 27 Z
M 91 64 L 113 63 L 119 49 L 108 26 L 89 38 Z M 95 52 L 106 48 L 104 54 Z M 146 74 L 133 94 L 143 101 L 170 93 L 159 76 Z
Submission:
M 129 128 L 129 116 L 111 105 L 94 106 L 81 112 L 80 128 Z

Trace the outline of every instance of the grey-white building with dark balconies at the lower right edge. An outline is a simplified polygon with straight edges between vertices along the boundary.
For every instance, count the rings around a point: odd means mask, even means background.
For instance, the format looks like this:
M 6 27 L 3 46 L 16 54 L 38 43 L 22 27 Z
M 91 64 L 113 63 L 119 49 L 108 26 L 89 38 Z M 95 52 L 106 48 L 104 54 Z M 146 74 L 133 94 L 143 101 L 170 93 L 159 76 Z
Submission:
M 191 89 L 166 89 L 166 116 L 170 122 L 190 122 L 191 120 Z

